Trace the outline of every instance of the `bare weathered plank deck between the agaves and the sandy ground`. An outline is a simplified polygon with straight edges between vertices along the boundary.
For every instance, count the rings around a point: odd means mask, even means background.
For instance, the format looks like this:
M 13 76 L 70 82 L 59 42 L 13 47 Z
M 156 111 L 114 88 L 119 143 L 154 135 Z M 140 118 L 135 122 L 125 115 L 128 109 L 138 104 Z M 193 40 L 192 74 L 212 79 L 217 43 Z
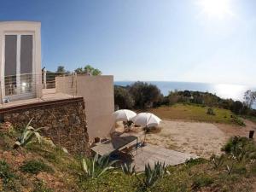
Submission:
M 134 152 L 133 165 L 135 165 L 137 172 L 142 172 L 145 165 L 148 163 L 150 166 L 154 166 L 154 162 L 160 161 L 161 163 L 165 163 L 166 166 L 177 166 L 191 158 L 197 159 L 198 156 L 161 148 L 147 143 L 146 146 Z

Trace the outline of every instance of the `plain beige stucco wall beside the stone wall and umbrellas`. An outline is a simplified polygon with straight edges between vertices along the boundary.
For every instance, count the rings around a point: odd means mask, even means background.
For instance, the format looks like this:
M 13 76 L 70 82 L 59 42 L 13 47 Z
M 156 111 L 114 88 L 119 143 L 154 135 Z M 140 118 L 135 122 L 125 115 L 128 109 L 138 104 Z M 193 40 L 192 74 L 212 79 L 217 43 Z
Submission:
M 57 77 L 56 91 L 84 97 L 90 139 L 108 136 L 113 127 L 113 76 Z

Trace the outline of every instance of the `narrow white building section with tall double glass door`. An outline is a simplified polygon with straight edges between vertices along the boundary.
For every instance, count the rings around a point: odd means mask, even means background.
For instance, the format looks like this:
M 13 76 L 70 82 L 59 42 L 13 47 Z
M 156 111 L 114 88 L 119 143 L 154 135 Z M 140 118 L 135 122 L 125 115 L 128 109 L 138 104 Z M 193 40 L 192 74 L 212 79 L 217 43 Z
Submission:
M 42 96 L 41 23 L 0 22 L 1 102 Z

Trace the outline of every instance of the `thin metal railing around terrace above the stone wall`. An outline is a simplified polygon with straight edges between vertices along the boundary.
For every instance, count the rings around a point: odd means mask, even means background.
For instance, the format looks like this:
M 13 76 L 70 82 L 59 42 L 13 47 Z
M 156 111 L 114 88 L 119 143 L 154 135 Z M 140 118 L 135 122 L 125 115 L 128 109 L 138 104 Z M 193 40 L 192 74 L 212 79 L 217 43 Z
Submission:
M 43 70 L 39 74 L 8 75 L 0 80 L 3 86 L 0 89 L 3 104 L 26 98 L 38 98 L 38 101 L 42 101 L 45 95 L 53 93 L 78 95 L 76 73 L 53 73 Z

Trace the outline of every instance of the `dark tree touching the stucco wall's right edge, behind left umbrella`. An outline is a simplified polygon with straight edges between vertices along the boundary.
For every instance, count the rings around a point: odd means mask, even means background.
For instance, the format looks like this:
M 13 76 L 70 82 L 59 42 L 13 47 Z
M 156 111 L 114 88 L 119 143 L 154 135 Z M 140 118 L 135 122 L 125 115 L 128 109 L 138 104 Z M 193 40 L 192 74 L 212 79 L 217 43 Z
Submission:
M 134 100 L 127 89 L 121 86 L 115 85 L 114 90 L 114 105 L 117 105 L 119 109 L 131 109 L 134 106 Z

